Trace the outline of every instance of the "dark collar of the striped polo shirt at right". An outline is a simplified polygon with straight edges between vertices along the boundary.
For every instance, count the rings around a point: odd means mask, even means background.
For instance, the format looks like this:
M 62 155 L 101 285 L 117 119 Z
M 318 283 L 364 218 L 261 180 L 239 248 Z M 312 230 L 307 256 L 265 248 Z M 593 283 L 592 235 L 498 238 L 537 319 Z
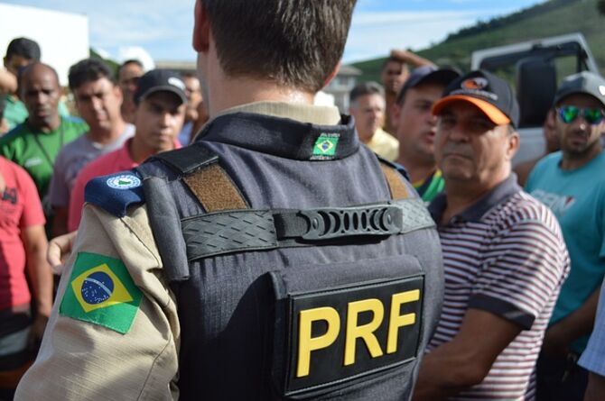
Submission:
M 517 174 L 511 173 L 510 176 L 499 183 L 497 187 L 494 187 L 487 194 L 481 196 L 477 202 L 464 209 L 461 214 L 455 215 L 452 220 L 479 223 L 481 217 L 488 213 L 492 207 L 506 201 L 510 196 L 517 194 L 520 190 L 521 187 L 517 184 Z M 439 222 L 441 222 L 446 205 L 447 197 L 444 192 L 436 196 L 433 199 L 433 202 L 431 202 L 431 205 L 429 205 L 429 212 L 435 223 L 439 224 Z

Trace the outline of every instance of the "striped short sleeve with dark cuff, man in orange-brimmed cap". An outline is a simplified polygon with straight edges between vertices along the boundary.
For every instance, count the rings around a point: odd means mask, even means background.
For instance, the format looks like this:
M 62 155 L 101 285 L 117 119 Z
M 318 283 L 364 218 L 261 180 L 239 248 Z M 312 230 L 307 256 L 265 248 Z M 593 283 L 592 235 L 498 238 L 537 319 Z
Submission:
M 469 307 L 530 329 L 569 269 L 560 232 L 540 221 L 517 222 L 493 239 L 484 255 Z

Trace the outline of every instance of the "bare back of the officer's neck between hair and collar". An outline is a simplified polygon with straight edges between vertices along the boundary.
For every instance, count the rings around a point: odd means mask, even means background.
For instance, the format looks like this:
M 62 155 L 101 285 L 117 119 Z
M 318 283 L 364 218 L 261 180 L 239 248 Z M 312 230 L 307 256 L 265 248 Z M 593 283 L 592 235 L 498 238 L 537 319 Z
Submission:
M 221 112 L 255 102 L 284 102 L 312 105 L 313 94 L 293 87 L 282 87 L 247 77 L 222 79 L 209 87 L 209 114 L 216 117 Z

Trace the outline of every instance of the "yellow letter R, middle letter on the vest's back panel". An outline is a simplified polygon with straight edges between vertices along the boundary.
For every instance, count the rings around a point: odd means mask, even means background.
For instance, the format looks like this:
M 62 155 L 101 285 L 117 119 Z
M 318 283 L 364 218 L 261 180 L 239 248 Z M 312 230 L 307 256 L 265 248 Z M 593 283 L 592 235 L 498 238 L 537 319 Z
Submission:
M 361 312 L 371 311 L 374 316 L 368 324 L 358 326 L 358 315 Z M 357 339 L 361 338 L 366 343 L 372 358 L 383 355 L 382 349 L 376 336 L 373 334 L 385 317 L 385 307 L 378 299 L 364 299 L 363 301 L 349 303 L 347 311 L 347 333 L 345 340 L 345 366 L 355 363 L 355 348 Z

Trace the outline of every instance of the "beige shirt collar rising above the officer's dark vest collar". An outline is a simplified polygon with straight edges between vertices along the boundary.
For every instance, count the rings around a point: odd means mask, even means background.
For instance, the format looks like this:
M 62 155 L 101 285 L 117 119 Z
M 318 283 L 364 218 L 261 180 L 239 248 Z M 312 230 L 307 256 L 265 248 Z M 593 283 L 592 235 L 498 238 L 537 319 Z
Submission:
M 335 125 L 340 122 L 338 107 L 325 105 L 302 105 L 285 102 L 255 102 L 223 110 L 219 115 L 232 113 L 265 114 L 273 117 L 290 118 L 300 123 Z M 217 117 L 219 116 L 217 115 Z M 216 117 L 215 117 L 216 118 Z M 210 122 L 209 122 L 210 123 Z

